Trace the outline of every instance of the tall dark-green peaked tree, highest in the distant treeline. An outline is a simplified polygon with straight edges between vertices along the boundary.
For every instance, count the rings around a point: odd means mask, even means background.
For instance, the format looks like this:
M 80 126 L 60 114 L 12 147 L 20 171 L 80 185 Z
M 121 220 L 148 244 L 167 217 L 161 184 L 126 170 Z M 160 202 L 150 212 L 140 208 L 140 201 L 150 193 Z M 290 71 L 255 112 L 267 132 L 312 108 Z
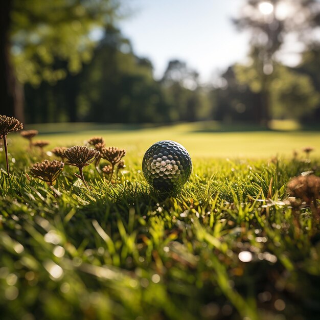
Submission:
M 153 79 L 152 64 L 108 27 L 80 79 L 80 120 L 109 123 L 169 122 L 169 105 Z M 81 113 L 81 115 L 80 115 Z

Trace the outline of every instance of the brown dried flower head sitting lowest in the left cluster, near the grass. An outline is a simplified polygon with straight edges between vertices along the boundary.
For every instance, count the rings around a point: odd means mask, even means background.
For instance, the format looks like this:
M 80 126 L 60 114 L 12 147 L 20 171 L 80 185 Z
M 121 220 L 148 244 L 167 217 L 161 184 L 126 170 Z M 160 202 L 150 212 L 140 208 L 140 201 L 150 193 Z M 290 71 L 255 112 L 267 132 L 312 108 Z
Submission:
M 49 186 L 52 186 L 58 175 L 61 173 L 64 167 L 64 163 L 57 160 L 44 160 L 40 163 L 36 163 L 30 169 L 31 174 L 47 182 Z

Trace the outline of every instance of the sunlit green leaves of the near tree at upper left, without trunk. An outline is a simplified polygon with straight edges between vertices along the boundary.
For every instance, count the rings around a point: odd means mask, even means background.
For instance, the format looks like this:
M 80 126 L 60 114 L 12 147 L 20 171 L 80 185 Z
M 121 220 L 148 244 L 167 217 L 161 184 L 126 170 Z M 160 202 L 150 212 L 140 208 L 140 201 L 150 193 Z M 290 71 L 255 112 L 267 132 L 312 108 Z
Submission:
M 71 73 L 90 61 L 96 42 L 92 32 L 112 24 L 118 1 L 13 0 L 10 14 L 11 54 L 17 79 L 39 85 L 65 78 L 67 62 Z

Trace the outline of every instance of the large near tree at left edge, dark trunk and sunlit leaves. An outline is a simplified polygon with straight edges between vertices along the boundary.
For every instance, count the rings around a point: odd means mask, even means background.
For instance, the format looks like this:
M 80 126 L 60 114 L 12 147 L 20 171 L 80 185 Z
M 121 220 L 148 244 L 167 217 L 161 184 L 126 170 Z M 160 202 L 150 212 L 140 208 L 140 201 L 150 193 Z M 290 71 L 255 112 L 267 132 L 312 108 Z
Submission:
M 1 10 L 1 112 L 23 120 L 22 85 L 55 83 L 66 76 L 55 61 L 77 73 L 95 48 L 92 32 L 112 25 L 120 0 L 6 0 Z

